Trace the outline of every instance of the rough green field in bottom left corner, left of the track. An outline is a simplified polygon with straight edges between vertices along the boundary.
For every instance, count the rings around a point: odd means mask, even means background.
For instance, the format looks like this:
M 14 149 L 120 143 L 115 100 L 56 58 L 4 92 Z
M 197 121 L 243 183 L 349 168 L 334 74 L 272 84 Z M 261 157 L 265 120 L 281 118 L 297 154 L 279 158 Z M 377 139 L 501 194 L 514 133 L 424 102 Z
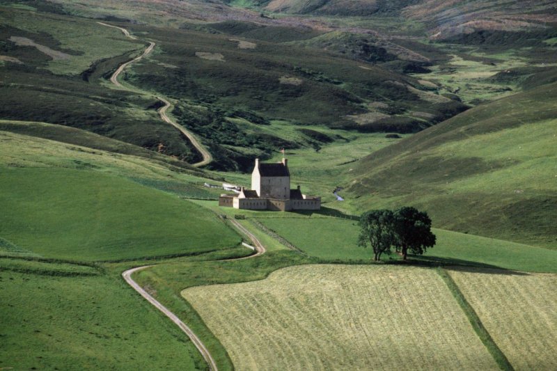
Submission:
M 204 369 L 180 329 L 91 267 L 0 259 L 0 303 L 1 370 Z

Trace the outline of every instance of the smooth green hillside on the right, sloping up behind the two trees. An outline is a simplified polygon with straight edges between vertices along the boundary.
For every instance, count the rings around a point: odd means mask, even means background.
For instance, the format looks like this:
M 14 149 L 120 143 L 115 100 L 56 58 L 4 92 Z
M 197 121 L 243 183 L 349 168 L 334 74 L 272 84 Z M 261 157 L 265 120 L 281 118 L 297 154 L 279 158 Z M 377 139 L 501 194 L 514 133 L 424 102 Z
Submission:
M 556 92 L 478 106 L 362 159 L 352 205 L 416 205 L 441 228 L 555 248 Z

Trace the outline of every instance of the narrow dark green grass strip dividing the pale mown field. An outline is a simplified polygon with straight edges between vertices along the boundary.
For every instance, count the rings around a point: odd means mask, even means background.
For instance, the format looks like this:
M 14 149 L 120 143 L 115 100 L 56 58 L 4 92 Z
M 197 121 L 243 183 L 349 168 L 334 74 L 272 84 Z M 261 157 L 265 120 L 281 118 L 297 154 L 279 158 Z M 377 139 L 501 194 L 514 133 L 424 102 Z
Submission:
M 481 342 L 483 342 L 483 345 L 485 345 L 489 354 L 492 355 L 499 368 L 501 368 L 501 370 L 514 371 L 515 368 L 512 367 L 507 356 L 505 356 L 503 351 L 496 344 L 495 340 L 493 340 L 492 336 L 489 335 L 489 332 L 487 332 L 487 329 L 483 326 L 480 317 L 478 317 L 478 313 L 476 313 L 473 306 L 471 306 L 471 304 L 466 300 L 466 297 L 464 297 L 464 294 L 460 291 L 460 288 L 455 280 L 453 280 L 453 277 L 450 276 L 446 269 L 441 267 L 437 268 L 437 273 L 446 283 L 448 290 L 451 294 L 453 294 L 453 297 L 455 297 L 458 305 L 476 332 L 476 335 L 478 335 L 478 338 L 480 338 Z

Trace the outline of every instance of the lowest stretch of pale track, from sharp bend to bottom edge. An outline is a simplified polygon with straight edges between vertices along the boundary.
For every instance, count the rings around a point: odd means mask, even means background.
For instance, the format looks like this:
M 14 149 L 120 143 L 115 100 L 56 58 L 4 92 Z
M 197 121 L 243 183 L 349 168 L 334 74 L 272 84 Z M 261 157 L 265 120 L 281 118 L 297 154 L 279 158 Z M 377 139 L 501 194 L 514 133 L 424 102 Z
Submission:
M 217 363 L 214 361 L 210 352 L 207 350 L 207 347 L 205 347 L 203 342 L 201 342 L 201 339 L 198 338 L 198 336 L 194 333 L 194 331 L 191 331 L 189 326 L 187 326 L 187 324 L 182 322 L 182 320 L 180 318 L 178 318 L 177 315 L 175 315 L 170 310 L 168 310 L 168 308 L 166 308 L 166 306 L 163 306 L 162 303 L 160 303 L 159 301 L 157 301 L 157 299 L 152 297 L 148 292 L 146 292 L 146 290 L 143 290 L 143 287 L 141 287 L 138 283 L 136 283 L 136 281 L 133 280 L 132 274 L 134 274 L 136 271 L 141 271 L 143 269 L 147 269 L 147 268 L 150 268 L 150 267 L 154 267 L 154 266 L 153 265 L 144 265 L 143 267 L 136 267 L 136 268 L 132 268 L 132 269 L 127 269 L 127 271 L 123 271 L 122 277 L 124 278 L 124 280 L 130 286 L 132 286 L 134 288 L 134 290 L 136 290 L 136 292 L 139 292 L 139 294 L 141 294 L 142 297 L 147 299 L 147 301 L 149 303 L 151 303 L 153 306 L 155 306 L 155 308 L 160 310 L 162 313 L 164 313 L 164 315 L 166 315 L 166 317 L 170 318 L 172 322 L 174 322 L 176 325 L 178 325 L 178 327 L 180 327 L 180 329 L 184 333 L 186 333 L 189 340 L 191 340 L 191 342 L 194 343 L 194 345 L 196 346 L 198 351 L 201 353 L 201 356 L 203 356 L 203 359 L 205 359 L 205 362 L 207 362 L 207 365 L 209 365 L 210 370 L 218 371 Z

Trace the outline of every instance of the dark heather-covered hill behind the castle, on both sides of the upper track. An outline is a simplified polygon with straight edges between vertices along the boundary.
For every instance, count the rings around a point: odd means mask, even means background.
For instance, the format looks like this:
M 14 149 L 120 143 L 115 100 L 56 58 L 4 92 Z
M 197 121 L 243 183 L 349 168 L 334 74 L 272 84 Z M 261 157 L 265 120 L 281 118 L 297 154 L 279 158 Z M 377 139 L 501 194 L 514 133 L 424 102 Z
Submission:
M 434 86 L 368 63 L 372 55 L 383 58 L 383 49 L 364 43 L 365 56 L 354 58 L 296 44 L 322 35 L 315 29 L 235 20 L 201 29 L 121 24 L 145 35 L 131 40 L 94 19 L 19 8 L 0 12 L 10 17 L 0 29 L 3 119 L 84 129 L 173 161 L 191 164 L 200 155 L 159 120 L 157 94 L 172 98 L 173 116 L 210 146 L 212 168 L 240 171 L 249 171 L 253 157 L 269 158 L 280 148 L 316 146 L 306 136 L 292 141 L 269 129 L 276 123 L 413 133 L 467 108 Z M 147 40 L 155 42 L 154 52 L 121 77 L 141 91 L 111 89 L 112 72 L 141 54 Z M 393 58 L 398 56 L 386 53 L 383 59 Z M 17 132 L 13 125 L 5 129 Z

